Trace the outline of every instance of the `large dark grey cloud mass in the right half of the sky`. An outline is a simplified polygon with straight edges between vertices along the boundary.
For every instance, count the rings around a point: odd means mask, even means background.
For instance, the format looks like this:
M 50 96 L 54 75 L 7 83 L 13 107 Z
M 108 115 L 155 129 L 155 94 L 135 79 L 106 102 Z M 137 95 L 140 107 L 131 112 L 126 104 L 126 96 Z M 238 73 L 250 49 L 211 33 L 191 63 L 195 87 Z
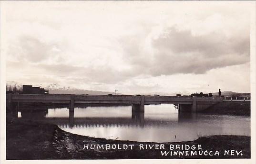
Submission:
M 225 36 L 221 32 L 194 36 L 190 30 L 169 27 L 152 39 L 152 52 L 142 39 L 123 39 L 125 59 L 133 72 L 152 76 L 176 73 L 203 74 L 211 69 L 250 61 L 250 32 Z

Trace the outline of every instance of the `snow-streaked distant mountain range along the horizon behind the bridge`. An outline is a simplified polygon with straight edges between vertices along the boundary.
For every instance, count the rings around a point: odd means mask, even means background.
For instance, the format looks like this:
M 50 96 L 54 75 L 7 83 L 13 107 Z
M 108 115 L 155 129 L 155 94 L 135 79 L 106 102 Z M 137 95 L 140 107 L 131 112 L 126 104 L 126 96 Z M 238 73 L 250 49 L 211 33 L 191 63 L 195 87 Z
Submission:
M 21 84 L 19 82 L 15 81 L 7 81 L 6 82 L 7 86 L 14 87 L 16 85 L 17 89 L 21 89 L 22 85 L 31 85 L 31 84 Z M 67 86 L 61 86 L 60 84 L 57 83 L 52 83 L 49 85 L 33 85 L 33 87 L 41 87 L 44 88 L 45 90 L 48 90 L 50 94 L 98 94 L 98 95 L 106 95 L 106 94 L 113 94 L 115 95 L 115 92 L 108 92 L 108 91 L 90 91 L 90 90 L 82 90 L 78 88 L 72 88 L 72 87 L 67 87 Z M 122 93 L 117 93 L 117 94 L 122 94 Z M 150 93 L 140 93 L 141 95 L 161 95 L 161 96 L 175 96 L 176 94 L 181 94 L 181 95 L 190 95 L 192 94 L 191 92 L 175 92 L 175 93 L 166 93 L 166 92 L 150 92 Z M 218 92 L 212 93 L 213 95 L 218 95 Z M 226 95 L 234 95 L 234 94 L 240 94 L 237 92 L 233 91 L 222 91 L 221 94 L 223 96 Z

